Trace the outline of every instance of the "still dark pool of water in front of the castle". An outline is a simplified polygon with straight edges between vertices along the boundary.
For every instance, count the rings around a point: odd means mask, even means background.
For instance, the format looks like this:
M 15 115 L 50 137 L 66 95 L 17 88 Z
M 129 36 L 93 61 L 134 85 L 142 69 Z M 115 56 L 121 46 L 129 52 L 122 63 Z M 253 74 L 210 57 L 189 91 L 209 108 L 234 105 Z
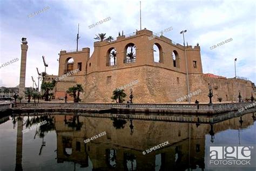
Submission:
M 209 146 L 256 144 L 253 113 L 214 124 L 77 113 L 23 113 L 3 117 L 0 123 L 1 171 L 255 170 L 206 164 Z

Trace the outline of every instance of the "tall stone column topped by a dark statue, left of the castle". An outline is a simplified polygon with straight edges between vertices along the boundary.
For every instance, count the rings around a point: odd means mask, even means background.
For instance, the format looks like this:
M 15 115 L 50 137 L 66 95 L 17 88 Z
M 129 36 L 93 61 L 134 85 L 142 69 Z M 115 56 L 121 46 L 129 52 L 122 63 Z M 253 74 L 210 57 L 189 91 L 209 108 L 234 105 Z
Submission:
M 22 38 L 22 54 L 21 54 L 21 73 L 19 74 L 19 96 L 25 98 L 25 79 L 26 79 L 26 52 L 28 51 L 28 42 L 26 38 Z

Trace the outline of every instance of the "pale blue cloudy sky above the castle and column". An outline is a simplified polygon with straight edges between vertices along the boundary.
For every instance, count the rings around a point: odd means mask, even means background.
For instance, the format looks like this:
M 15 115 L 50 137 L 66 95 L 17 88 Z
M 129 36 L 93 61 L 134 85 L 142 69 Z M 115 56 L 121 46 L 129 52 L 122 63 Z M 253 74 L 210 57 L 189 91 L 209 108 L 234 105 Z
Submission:
M 180 31 L 187 30 L 188 45 L 201 48 L 203 72 L 234 77 L 234 59 L 237 58 L 237 76 L 256 82 L 255 17 L 256 1 L 141 1 L 142 28 L 154 33 L 172 27 L 164 33 L 176 43 L 183 44 Z M 50 9 L 33 17 L 31 13 L 49 6 Z M 103 24 L 89 28 L 107 17 Z M 0 0 L 0 66 L 12 59 L 19 60 L 0 69 L 0 87 L 19 84 L 21 65 L 21 38 L 28 41 L 26 87 L 32 87 L 31 76 L 37 80 L 44 71 L 42 56 L 49 67 L 46 73 L 58 74 L 58 53 L 76 49 L 77 27 L 79 47 L 93 52 L 95 34 L 106 33 L 116 38 L 139 30 L 139 1 L 9 1 Z M 217 48 L 211 46 L 232 38 Z

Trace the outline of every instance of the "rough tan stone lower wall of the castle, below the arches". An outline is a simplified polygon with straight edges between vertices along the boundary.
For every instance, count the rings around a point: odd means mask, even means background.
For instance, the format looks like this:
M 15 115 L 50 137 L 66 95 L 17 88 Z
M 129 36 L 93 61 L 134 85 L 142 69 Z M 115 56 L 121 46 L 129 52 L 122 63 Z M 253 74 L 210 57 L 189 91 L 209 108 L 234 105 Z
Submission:
M 86 75 L 83 85 L 85 96 L 82 98 L 84 102 L 112 102 L 114 89 L 139 80 L 134 86 L 124 89 L 127 94 L 126 101 L 129 100 L 130 88 L 133 88 L 134 103 L 175 102 L 186 92 L 185 79 L 185 74 L 151 66 L 91 73 Z

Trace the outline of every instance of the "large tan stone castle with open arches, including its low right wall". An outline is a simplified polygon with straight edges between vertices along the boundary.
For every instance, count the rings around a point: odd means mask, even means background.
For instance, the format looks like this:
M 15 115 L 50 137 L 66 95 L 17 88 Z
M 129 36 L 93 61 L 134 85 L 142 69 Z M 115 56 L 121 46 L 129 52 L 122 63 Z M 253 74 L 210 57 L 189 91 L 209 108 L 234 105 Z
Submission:
M 56 98 L 63 98 L 65 91 L 75 84 L 82 84 L 82 102 L 111 103 L 113 90 L 139 80 L 138 84 L 125 88 L 126 101 L 132 89 L 133 103 L 171 103 L 187 95 L 186 62 L 191 102 L 196 99 L 208 102 L 209 86 L 213 91 L 213 102 L 237 101 L 239 91 L 242 99 L 255 97 L 254 83 L 244 79 L 203 74 L 200 46 L 182 46 L 169 38 L 149 40 L 150 30 L 136 31 L 130 35 L 119 35 L 113 41 L 94 42 L 90 48 L 78 51 L 60 51 L 58 76 L 79 69 L 80 72 L 57 82 Z M 69 97 L 72 99 L 71 97 Z M 187 99 L 184 100 L 184 102 Z

